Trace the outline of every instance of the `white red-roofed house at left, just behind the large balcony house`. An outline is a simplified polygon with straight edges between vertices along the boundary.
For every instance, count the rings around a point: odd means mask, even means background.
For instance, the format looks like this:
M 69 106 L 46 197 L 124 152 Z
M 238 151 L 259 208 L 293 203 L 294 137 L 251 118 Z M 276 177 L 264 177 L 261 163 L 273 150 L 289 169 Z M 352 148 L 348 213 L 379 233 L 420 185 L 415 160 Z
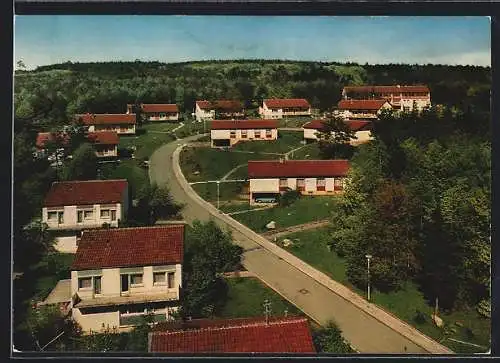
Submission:
M 125 179 L 55 182 L 43 202 L 42 222 L 56 234 L 58 251 L 74 253 L 80 230 L 118 227 L 128 206 Z

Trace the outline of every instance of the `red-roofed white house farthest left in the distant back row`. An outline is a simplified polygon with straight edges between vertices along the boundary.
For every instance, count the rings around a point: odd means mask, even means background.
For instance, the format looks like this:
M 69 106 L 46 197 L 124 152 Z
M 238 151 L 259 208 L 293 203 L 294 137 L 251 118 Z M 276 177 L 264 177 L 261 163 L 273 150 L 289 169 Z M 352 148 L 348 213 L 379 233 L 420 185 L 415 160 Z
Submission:
M 75 115 L 75 120 L 81 120 L 88 131 L 115 131 L 118 135 L 135 134 L 135 113 L 101 113 Z

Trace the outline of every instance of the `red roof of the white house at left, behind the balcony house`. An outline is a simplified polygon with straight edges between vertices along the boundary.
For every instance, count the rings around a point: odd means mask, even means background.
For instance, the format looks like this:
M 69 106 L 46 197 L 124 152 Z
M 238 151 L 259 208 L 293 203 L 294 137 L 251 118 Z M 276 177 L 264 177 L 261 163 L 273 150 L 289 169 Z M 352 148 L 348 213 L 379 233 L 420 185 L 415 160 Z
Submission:
M 52 183 L 44 207 L 119 203 L 128 182 L 118 180 L 84 180 Z

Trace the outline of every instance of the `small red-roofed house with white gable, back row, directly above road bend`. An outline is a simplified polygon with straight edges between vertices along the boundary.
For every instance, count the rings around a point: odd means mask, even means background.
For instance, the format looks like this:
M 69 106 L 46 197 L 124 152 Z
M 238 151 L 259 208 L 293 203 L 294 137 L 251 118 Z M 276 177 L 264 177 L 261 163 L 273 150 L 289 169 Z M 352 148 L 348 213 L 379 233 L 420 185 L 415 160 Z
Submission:
M 196 101 L 196 121 L 235 120 L 245 117 L 243 104 L 236 100 Z

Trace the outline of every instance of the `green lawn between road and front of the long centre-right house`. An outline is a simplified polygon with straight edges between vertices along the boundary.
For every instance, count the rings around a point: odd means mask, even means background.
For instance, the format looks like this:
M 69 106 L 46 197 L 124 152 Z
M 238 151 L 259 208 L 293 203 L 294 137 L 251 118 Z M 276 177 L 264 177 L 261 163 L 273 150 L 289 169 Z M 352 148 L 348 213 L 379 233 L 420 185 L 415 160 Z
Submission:
M 236 214 L 233 218 L 261 233 L 266 231 L 265 226 L 270 221 L 276 222 L 276 228 L 283 228 L 328 218 L 336 198 L 303 196 L 288 207 L 276 206 L 262 211 Z

